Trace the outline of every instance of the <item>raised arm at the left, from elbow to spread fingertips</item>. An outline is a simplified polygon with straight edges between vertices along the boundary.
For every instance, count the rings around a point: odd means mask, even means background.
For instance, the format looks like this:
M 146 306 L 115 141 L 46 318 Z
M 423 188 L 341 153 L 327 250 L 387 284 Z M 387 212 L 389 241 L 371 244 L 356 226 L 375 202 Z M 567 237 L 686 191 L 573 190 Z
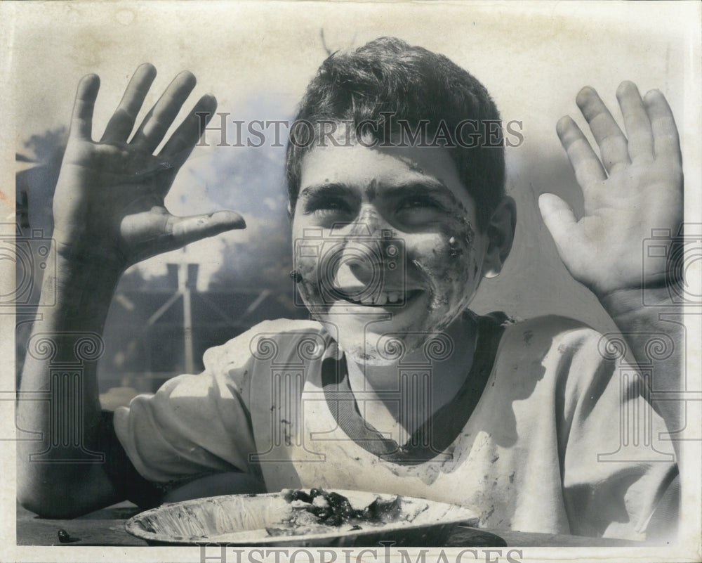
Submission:
M 234 212 L 211 216 L 176 217 L 164 207 L 164 198 L 178 169 L 190 155 L 200 135 L 198 112 L 212 115 L 216 101 L 204 96 L 183 124 L 168 139 L 158 155 L 152 153 L 164 138 L 195 79 L 183 72 L 173 80 L 143 124 L 131 134 L 141 105 L 156 71 L 142 65 L 129 83 L 124 98 L 107 124 L 100 142 L 92 140 L 93 105 L 99 79 L 88 75 L 81 80 L 72 117 L 69 142 L 53 201 L 53 247 L 57 256 L 55 276 L 46 276 L 42 295 L 56 295 L 47 307 L 34 334 L 44 333 L 53 342 L 53 362 L 74 362 L 74 347 L 80 333 L 102 334 L 114 287 L 128 266 L 147 257 L 181 247 L 187 242 L 216 235 L 232 228 L 244 228 Z M 49 360 L 27 354 L 20 391 L 49 391 Z M 95 361 L 84 363 L 80 424 L 71 434 L 82 436 L 89 451 L 105 444 L 100 424 L 100 403 Z M 55 416 L 63 417 L 67 406 L 51 405 Z M 58 462 L 60 448 L 51 448 L 51 409 L 39 403 L 19 401 L 18 427 L 41 432 L 39 441 L 18 445 L 18 498 L 39 515 L 73 517 L 121 500 L 121 493 L 105 472 L 105 464 Z M 44 462 L 32 460 L 41 453 Z M 65 453 L 65 452 L 63 452 Z

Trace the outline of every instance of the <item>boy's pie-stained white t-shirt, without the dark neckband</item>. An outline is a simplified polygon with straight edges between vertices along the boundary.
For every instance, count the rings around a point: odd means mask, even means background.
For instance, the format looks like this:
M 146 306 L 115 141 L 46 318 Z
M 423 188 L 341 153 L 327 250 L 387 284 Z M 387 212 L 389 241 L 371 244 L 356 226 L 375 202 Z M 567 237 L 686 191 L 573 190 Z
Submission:
M 475 410 L 423 462 L 383 458 L 372 432 L 365 445 L 351 437 L 365 432 L 349 420 L 355 399 L 329 387 L 343 356 L 314 321 L 266 321 L 209 349 L 203 373 L 136 397 L 114 425 L 154 483 L 238 469 L 269 491 L 397 493 L 461 503 L 493 528 L 643 539 L 677 465 L 640 377 L 601 339 L 555 316 L 506 325 Z

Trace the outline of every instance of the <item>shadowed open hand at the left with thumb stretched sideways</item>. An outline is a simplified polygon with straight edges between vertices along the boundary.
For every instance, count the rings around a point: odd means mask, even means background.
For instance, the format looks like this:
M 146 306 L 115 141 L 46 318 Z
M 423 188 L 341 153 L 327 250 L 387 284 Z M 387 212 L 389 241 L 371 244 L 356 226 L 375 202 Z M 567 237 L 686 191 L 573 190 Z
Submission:
M 195 86 L 195 77 L 181 72 L 128 141 L 155 76 L 152 65 L 138 67 L 99 142 L 92 139 L 92 119 L 100 79 L 88 75 L 79 83 L 53 200 L 53 238 L 69 261 L 99 258 L 124 271 L 154 254 L 246 226 L 232 211 L 176 217 L 164 206 L 173 179 L 217 103 L 213 96 L 200 98 L 154 155 Z M 197 113 L 207 114 L 202 124 Z

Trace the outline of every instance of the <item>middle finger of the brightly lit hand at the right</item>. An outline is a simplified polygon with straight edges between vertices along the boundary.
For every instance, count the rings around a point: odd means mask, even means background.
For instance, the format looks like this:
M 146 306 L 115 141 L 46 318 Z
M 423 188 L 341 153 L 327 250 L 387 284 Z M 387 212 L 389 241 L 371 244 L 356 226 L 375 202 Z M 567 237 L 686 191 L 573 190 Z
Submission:
M 600 147 L 602 164 L 608 173 L 617 166 L 629 164 L 626 137 L 614 121 L 597 92 L 585 86 L 576 97 L 576 103 L 590 125 L 592 136 Z

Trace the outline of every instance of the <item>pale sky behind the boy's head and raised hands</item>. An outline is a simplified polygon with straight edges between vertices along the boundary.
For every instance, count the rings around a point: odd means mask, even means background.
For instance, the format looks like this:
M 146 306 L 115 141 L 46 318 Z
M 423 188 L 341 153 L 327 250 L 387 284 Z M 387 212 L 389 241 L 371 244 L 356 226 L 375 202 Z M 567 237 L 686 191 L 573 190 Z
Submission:
M 6 3 L 4 13 L 13 25 L 4 30 L 4 72 L 11 80 L 4 86 L 3 101 L 14 116 L 14 143 L 4 148 L 21 152 L 30 135 L 65 125 L 75 86 L 88 72 L 102 81 L 93 124 L 93 135 L 99 137 L 131 72 L 145 61 L 156 65 L 159 75 L 143 112 L 173 76 L 189 69 L 198 78 L 192 103 L 213 93 L 218 111 L 229 112 L 231 119 L 288 119 L 327 51 L 394 35 L 465 67 L 492 93 L 504 121 L 523 124 L 524 143 L 508 149 L 507 155 L 508 190 L 517 199 L 519 216 L 515 250 L 501 276 L 483 283 L 474 309 L 505 309 L 523 317 L 569 314 L 603 330 L 609 321 L 560 264 L 536 208 L 543 191 L 564 195 L 576 209 L 581 205 L 555 123 L 562 115 L 578 115 L 574 98 L 585 84 L 595 87 L 613 110 L 622 79 L 633 80 L 642 92 L 661 89 L 681 128 L 686 178 L 699 179 L 700 41 L 698 26 L 691 25 L 692 6 Z M 194 151 L 166 204 L 174 214 L 237 209 L 249 228 L 140 264 L 145 276 L 164 273 L 169 261 L 197 261 L 199 288 L 204 289 L 214 273 L 237 267 L 237 256 L 227 249 L 260 249 L 266 233 L 288 228 L 283 149 L 270 143 L 261 148 L 216 147 L 216 136 L 210 146 Z M 206 139 L 211 138 L 208 133 Z M 8 158 L 10 152 L 3 154 Z M 687 197 L 689 203 L 698 200 L 699 190 Z

